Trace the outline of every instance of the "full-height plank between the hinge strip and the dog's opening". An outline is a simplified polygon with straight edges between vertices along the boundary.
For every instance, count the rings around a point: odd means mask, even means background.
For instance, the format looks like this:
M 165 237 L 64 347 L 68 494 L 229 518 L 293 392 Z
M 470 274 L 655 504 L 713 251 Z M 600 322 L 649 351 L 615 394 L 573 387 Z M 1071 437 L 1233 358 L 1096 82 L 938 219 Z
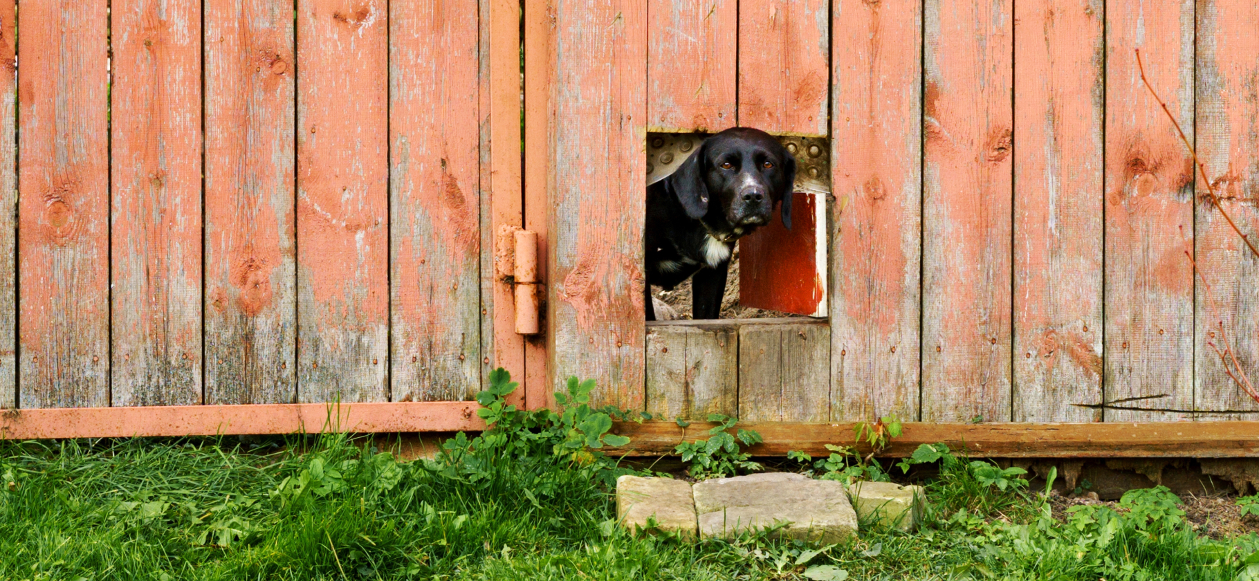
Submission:
M 555 6 L 549 123 L 550 384 L 593 379 L 592 405 L 642 409 L 646 0 Z

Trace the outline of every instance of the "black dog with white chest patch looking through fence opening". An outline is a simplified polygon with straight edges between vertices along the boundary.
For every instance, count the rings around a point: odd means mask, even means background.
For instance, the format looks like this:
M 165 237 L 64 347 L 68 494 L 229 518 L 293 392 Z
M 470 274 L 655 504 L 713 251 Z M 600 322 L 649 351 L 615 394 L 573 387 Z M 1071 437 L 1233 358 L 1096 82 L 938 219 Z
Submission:
M 734 241 L 768 224 L 778 201 L 791 229 L 794 180 L 796 158 L 778 140 L 735 127 L 647 186 L 647 321 L 656 319 L 651 285 L 672 289 L 691 274 L 692 317 L 718 318 Z

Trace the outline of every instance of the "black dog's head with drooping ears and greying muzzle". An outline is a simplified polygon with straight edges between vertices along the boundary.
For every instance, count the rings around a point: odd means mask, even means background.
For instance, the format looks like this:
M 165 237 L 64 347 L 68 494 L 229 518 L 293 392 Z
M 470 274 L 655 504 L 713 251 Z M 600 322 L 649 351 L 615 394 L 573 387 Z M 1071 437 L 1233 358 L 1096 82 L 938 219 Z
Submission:
M 708 140 L 674 175 L 670 187 L 691 219 L 721 219 L 752 230 L 769 223 L 774 202 L 791 229 L 796 158 L 764 131 L 735 127 Z

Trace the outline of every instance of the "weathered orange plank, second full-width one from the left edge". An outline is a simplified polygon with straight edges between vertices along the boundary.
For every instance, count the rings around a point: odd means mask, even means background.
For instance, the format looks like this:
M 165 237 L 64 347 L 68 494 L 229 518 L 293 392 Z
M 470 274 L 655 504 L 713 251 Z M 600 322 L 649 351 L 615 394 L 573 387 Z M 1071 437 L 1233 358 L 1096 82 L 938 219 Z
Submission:
M 201 13 L 111 4 L 111 405 L 201 402 Z

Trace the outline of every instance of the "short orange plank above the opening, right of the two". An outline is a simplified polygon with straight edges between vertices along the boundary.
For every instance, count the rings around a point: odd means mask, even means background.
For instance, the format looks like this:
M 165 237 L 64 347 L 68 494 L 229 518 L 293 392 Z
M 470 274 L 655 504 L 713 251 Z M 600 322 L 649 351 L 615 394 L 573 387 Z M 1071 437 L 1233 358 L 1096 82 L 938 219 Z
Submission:
M 830 5 L 739 3 L 739 124 L 771 133 L 827 135 Z

